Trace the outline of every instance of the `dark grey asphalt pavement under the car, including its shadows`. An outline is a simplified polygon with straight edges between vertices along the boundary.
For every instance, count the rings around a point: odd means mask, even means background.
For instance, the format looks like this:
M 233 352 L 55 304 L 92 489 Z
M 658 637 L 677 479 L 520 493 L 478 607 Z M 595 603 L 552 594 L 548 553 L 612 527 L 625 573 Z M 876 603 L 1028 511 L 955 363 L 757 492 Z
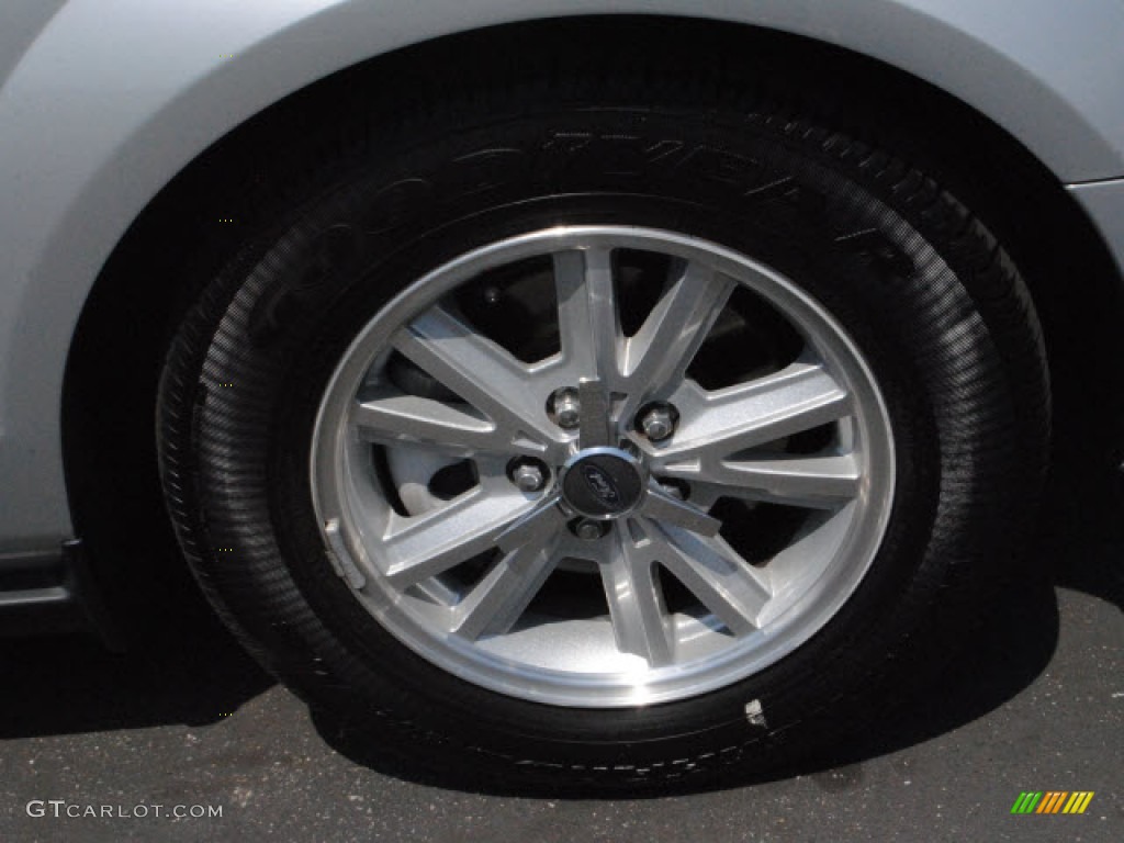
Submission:
M 789 778 L 705 792 L 435 780 L 348 746 L 206 618 L 145 654 L 3 642 L 0 841 L 1121 841 L 1124 542 L 1075 518 L 1042 527 L 1044 573 L 907 715 Z M 1013 815 L 1025 791 L 1094 796 Z

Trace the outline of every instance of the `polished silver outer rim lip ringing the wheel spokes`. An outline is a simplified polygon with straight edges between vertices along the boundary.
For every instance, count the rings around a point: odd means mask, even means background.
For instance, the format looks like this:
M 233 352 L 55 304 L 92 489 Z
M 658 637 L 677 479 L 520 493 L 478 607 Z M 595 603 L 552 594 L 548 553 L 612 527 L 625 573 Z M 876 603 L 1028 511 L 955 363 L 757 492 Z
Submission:
M 836 556 L 845 555 L 843 550 L 858 545 L 859 559 L 851 560 L 843 570 L 832 570 L 839 568 L 837 560 L 830 562 L 813 583 L 815 588 L 806 588 L 800 597 L 756 633 L 743 638 L 738 646 L 700 660 L 705 662 L 703 665 L 673 663 L 647 671 L 575 673 L 504 658 L 445 631 L 435 634 L 423 620 L 404 610 L 401 593 L 386 581 L 375 565 L 369 561 L 364 564 L 368 545 L 363 531 L 353 519 L 347 523 L 353 501 L 347 500 L 344 487 L 350 486 L 353 466 L 346 459 L 347 426 L 339 418 L 346 418 L 347 404 L 354 400 L 363 378 L 386 353 L 391 336 L 413 317 L 488 269 L 591 245 L 700 260 L 731 275 L 795 324 L 808 342 L 814 343 L 833 374 L 842 378 L 849 393 L 855 396 L 851 418 L 860 428 L 859 435 L 864 443 L 863 486 L 842 508 L 862 504 L 863 511 L 850 517 Z M 828 333 L 821 335 L 818 332 L 824 327 Z M 369 320 L 341 359 L 325 389 L 312 443 L 309 457 L 311 496 L 325 547 L 337 558 L 341 552 L 351 555 L 351 566 L 368 582 L 363 591 L 353 587 L 352 593 L 375 620 L 410 650 L 461 679 L 508 696 L 578 708 L 631 707 L 696 697 L 758 673 L 806 643 L 835 617 L 869 571 L 889 522 L 896 483 L 892 429 L 885 400 L 858 346 L 823 306 L 765 264 L 719 244 L 664 229 L 619 225 L 558 226 L 487 244 L 438 266 L 404 289 Z M 554 456 L 547 459 L 554 460 Z M 871 489 L 871 478 L 876 473 L 879 488 Z M 325 532 L 332 517 L 343 524 L 343 543 L 333 542 Z M 341 575 L 346 579 L 346 571 Z M 825 579 L 830 582 L 822 582 Z M 808 623 L 809 613 L 819 619 Z

